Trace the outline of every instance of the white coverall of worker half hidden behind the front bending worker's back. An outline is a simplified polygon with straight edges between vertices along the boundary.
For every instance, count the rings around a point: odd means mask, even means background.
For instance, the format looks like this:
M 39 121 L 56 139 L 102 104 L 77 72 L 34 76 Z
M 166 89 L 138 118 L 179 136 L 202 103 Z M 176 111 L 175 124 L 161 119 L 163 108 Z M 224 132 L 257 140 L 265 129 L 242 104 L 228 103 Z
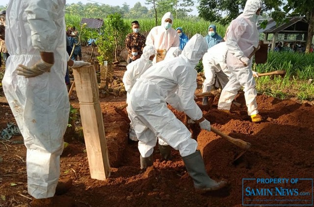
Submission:
M 127 102 L 128 98 L 130 97 L 131 89 L 134 86 L 137 78 L 139 78 L 148 68 L 152 66 L 152 61 L 150 61 L 149 58 L 150 56 L 155 54 L 156 50 L 154 46 L 145 46 L 143 48 L 142 56 L 127 65 L 127 71 L 125 71 L 122 79 L 125 89 L 127 91 Z M 130 123 L 129 138 L 133 141 L 138 140 L 136 138 L 132 123 Z

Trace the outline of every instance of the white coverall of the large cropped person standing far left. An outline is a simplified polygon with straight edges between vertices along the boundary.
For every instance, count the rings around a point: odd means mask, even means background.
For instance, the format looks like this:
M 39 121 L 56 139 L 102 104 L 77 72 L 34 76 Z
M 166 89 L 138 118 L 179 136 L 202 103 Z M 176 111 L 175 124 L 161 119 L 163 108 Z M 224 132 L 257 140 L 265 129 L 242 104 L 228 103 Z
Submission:
M 24 138 L 28 193 L 36 199 L 54 195 L 69 118 L 64 6 L 65 0 L 10 0 L 6 10 L 10 57 L 3 91 Z M 39 52 L 53 52 L 51 71 L 31 78 L 17 75 L 19 64 L 41 60 Z

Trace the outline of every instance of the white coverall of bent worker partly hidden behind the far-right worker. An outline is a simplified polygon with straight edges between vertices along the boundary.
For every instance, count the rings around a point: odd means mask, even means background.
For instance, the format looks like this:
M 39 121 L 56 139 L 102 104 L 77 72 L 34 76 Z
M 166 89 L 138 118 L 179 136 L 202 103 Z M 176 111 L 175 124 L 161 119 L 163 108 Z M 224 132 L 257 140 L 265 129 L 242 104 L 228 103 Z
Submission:
M 203 56 L 203 69 L 206 77 L 203 83 L 203 92 L 210 92 L 211 86 L 214 84 L 215 74 L 217 74 L 222 88 L 228 83 L 231 72 L 226 64 L 226 56 L 226 42 L 210 47 Z

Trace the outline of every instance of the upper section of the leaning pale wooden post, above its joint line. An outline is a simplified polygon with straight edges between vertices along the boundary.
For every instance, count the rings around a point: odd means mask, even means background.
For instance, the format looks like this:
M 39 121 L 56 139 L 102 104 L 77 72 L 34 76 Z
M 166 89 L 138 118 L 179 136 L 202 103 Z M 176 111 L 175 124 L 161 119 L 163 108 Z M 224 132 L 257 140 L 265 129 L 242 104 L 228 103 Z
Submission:
M 73 69 L 73 74 L 79 102 L 98 102 L 99 92 L 94 66 L 83 66 Z

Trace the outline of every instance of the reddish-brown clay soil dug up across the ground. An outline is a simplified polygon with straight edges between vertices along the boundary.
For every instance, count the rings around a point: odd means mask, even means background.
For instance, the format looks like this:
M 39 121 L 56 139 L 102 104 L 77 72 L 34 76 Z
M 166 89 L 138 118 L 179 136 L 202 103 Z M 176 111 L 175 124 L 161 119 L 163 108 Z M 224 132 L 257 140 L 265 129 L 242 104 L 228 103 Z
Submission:
M 117 69 L 115 75 L 122 77 L 123 72 Z M 198 83 L 197 92 L 201 92 L 199 80 Z M 73 96 L 76 97 L 76 92 Z M 114 106 L 124 104 L 125 99 L 126 95 L 100 100 L 111 164 L 110 178 L 105 181 L 90 178 L 84 143 L 75 135 L 61 157 L 60 177 L 74 181 L 66 195 L 73 196 L 78 207 L 240 207 L 242 178 L 313 178 L 314 106 L 308 103 L 258 95 L 259 110 L 265 121 L 254 124 L 247 116 L 243 93 L 236 98 L 242 107 L 233 105 L 230 115 L 217 110 L 217 100 L 209 109 L 201 105 L 201 98 L 198 99 L 197 103 L 212 127 L 252 144 L 249 151 L 233 162 L 241 152 L 238 147 L 190 124 L 209 176 L 229 182 L 223 190 L 199 193 L 194 190 L 192 179 L 176 150 L 172 150 L 172 161 L 162 161 L 155 148 L 154 166 L 145 172 L 140 170 L 137 143 L 128 142 L 129 123 L 114 111 Z M 78 108 L 78 99 L 71 104 Z M 183 121 L 183 113 L 172 110 Z M 15 122 L 10 108 L 0 104 L 0 129 L 6 128 L 9 121 Z M 14 144 L 15 140 L 23 138 L 14 136 L 10 141 L 0 140 L 0 207 L 27 207 L 31 202 L 27 193 L 26 148 L 23 144 Z M 285 187 L 292 188 L 290 185 Z M 252 187 L 260 186 L 252 184 Z M 300 191 L 312 190 L 306 184 L 299 188 Z M 255 197 L 258 198 L 262 197 Z

